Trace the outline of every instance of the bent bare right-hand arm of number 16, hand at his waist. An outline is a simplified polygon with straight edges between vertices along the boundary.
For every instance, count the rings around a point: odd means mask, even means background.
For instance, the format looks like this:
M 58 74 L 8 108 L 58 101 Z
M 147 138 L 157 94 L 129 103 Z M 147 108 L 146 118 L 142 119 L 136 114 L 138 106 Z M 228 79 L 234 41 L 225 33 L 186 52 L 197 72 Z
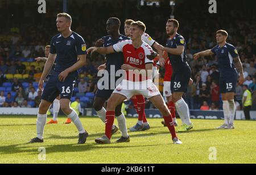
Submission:
M 65 69 L 64 71 L 60 72 L 60 74 L 59 74 L 60 82 L 61 81 L 64 82 L 70 72 L 76 71 L 76 70 L 80 69 L 82 66 L 85 66 L 86 55 L 78 55 L 77 57 L 79 58 L 79 60 L 73 66 L 68 67 L 68 69 Z

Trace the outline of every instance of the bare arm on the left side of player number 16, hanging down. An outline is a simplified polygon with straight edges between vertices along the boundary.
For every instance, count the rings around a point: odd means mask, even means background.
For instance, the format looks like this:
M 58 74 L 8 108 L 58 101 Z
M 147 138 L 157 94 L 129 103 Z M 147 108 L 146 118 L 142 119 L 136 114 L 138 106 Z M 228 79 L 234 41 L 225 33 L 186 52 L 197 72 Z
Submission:
M 55 61 L 55 58 L 56 58 L 56 54 L 51 54 L 50 53 L 49 56 L 48 56 L 48 59 L 46 60 L 46 64 L 44 65 L 44 70 L 43 70 L 42 76 L 41 76 L 41 78 L 39 80 L 39 83 L 38 83 L 38 87 L 41 89 L 41 91 L 43 90 L 44 79 L 46 78 L 46 76 L 51 71 L 52 65 Z

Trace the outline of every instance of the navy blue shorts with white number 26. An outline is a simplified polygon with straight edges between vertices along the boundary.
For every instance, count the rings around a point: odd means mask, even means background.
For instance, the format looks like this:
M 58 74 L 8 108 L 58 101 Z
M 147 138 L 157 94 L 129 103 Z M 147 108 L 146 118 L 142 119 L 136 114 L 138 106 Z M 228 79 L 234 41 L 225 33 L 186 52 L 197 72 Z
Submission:
M 179 71 L 173 72 L 171 78 L 171 92 L 187 92 L 190 78 L 191 69 L 189 66 L 185 66 Z

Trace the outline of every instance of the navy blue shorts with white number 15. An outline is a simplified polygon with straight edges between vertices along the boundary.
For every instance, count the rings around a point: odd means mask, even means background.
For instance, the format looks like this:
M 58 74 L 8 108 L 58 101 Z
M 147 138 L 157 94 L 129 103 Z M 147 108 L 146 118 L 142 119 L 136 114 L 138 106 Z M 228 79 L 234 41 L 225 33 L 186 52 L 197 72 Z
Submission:
M 220 93 L 236 92 L 237 71 L 226 72 L 220 76 Z

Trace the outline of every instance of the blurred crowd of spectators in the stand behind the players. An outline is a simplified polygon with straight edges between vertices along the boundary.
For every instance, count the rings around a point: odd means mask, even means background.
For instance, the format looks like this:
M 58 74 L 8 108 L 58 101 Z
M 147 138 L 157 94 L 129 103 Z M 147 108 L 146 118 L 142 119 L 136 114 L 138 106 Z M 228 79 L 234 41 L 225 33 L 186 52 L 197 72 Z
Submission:
M 28 4 L 28 7 L 29 6 Z M 69 5 L 69 13 L 72 15 L 74 23 L 72 24 L 72 29 L 84 37 L 88 47 L 93 46 L 97 39 L 106 35 L 106 19 L 112 16 L 123 16 L 123 8 L 118 8 L 119 6 L 121 5 L 112 6 L 109 3 L 85 3 L 80 6 L 79 3 L 72 3 Z M 127 11 L 133 6 L 138 7 L 135 1 L 127 7 Z M 253 11 L 251 11 L 250 8 L 245 10 L 242 6 L 239 11 L 236 8 L 225 12 L 219 11 L 218 16 L 227 16 L 223 19 L 214 18 L 207 13 L 201 14 L 203 12 L 197 11 L 197 8 L 191 8 L 193 6 L 197 6 L 197 4 L 195 2 L 194 4 L 187 4 L 186 6 L 177 4 L 175 11 L 175 18 L 180 21 L 178 32 L 185 37 L 187 43 L 187 60 L 191 66 L 192 79 L 194 81 L 194 83 L 188 87 L 188 92 L 184 96 L 189 108 L 201 110 L 221 109 L 217 58 L 212 56 L 201 57 L 197 60 L 193 59 L 194 53 L 213 48 L 213 46 L 216 45 L 215 32 L 217 29 L 226 29 L 226 31 L 228 31 L 228 42 L 236 46 L 243 64 L 246 80 L 243 84 L 245 84 L 252 93 L 254 92 L 253 94 L 255 96 L 256 25 L 255 15 L 250 15 L 250 12 Z M 166 7 L 138 8 L 140 9 L 134 10 L 133 13 L 128 13 L 128 18 L 142 20 L 147 26 L 146 32 L 153 39 L 164 45 L 167 39 L 165 23 L 169 18 L 170 9 Z M 5 6 L 0 6 L 0 10 L 3 12 L 6 11 Z M 82 12 L 82 14 L 79 14 L 79 12 Z M 17 19 L 11 20 L 13 23 L 9 24 L 10 27 L 2 31 L 3 35 L 0 35 L 0 87 L 3 87 L 5 82 L 13 82 L 13 84 L 11 89 L 9 89 L 11 91 L 7 92 L 3 91 L 3 89 L 1 91 L 0 89 L 0 106 L 36 107 L 40 103 L 40 95 L 42 92 L 36 87 L 36 82 L 39 81 L 42 75 L 43 63 L 36 63 L 34 58 L 44 57 L 44 46 L 48 45 L 51 36 L 56 34 L 54 24 L 56 14 L 57 12 L 48 12 L 45 18 L 39 18 L 40 20 L 38 22 L 32 20 L 31 17 L 28 17 L 28 19 L 20 19 L 14 16 Z M 107 15 L 102 17 L 100 14 Z M 144 14 L 151 14 L 152 18 L 148 18 L 148 16 Z M 22 15 L 26 17 L 28 14 L 20 11 L 19 16 Z M 37 14 L 37 16 L 39 16 L 39 14 Z M 125 18 L 120 17 L 119 19 L 123 22 Z M 29 23 L 29 20 L 32 20 L 33 23 Z M 88 24 L 88 22 L 90 22 L 90 24 Z M 154 23 L 152 24 L 152 22 Z M 121 33 L 122 31 L 123 29 L 121 27 Z M 77 81 L 75 93 L 96 92 L 96 83 L 98 80 L 97 67 L 104 62 L 105 59 L 101 55 L 98 56 L 96 60 L 92 60 L 88 56 L 86 66 L 79 70 L 80 78 L 79 81 Z M 164 69 L 160 68 L 159 72 L 159 90 L 161 92 L 163 91 Z M 23 82 L 27 82 L 29 86 L 23 87 Z M 242 108 L 242 95 L 242 86 L 237 84 L 235 99 L 237 109 Z M 255 101 L 255 97 L 253 97 L 253 100 Z M 31 103 L 31 101 L 34 103 Z

